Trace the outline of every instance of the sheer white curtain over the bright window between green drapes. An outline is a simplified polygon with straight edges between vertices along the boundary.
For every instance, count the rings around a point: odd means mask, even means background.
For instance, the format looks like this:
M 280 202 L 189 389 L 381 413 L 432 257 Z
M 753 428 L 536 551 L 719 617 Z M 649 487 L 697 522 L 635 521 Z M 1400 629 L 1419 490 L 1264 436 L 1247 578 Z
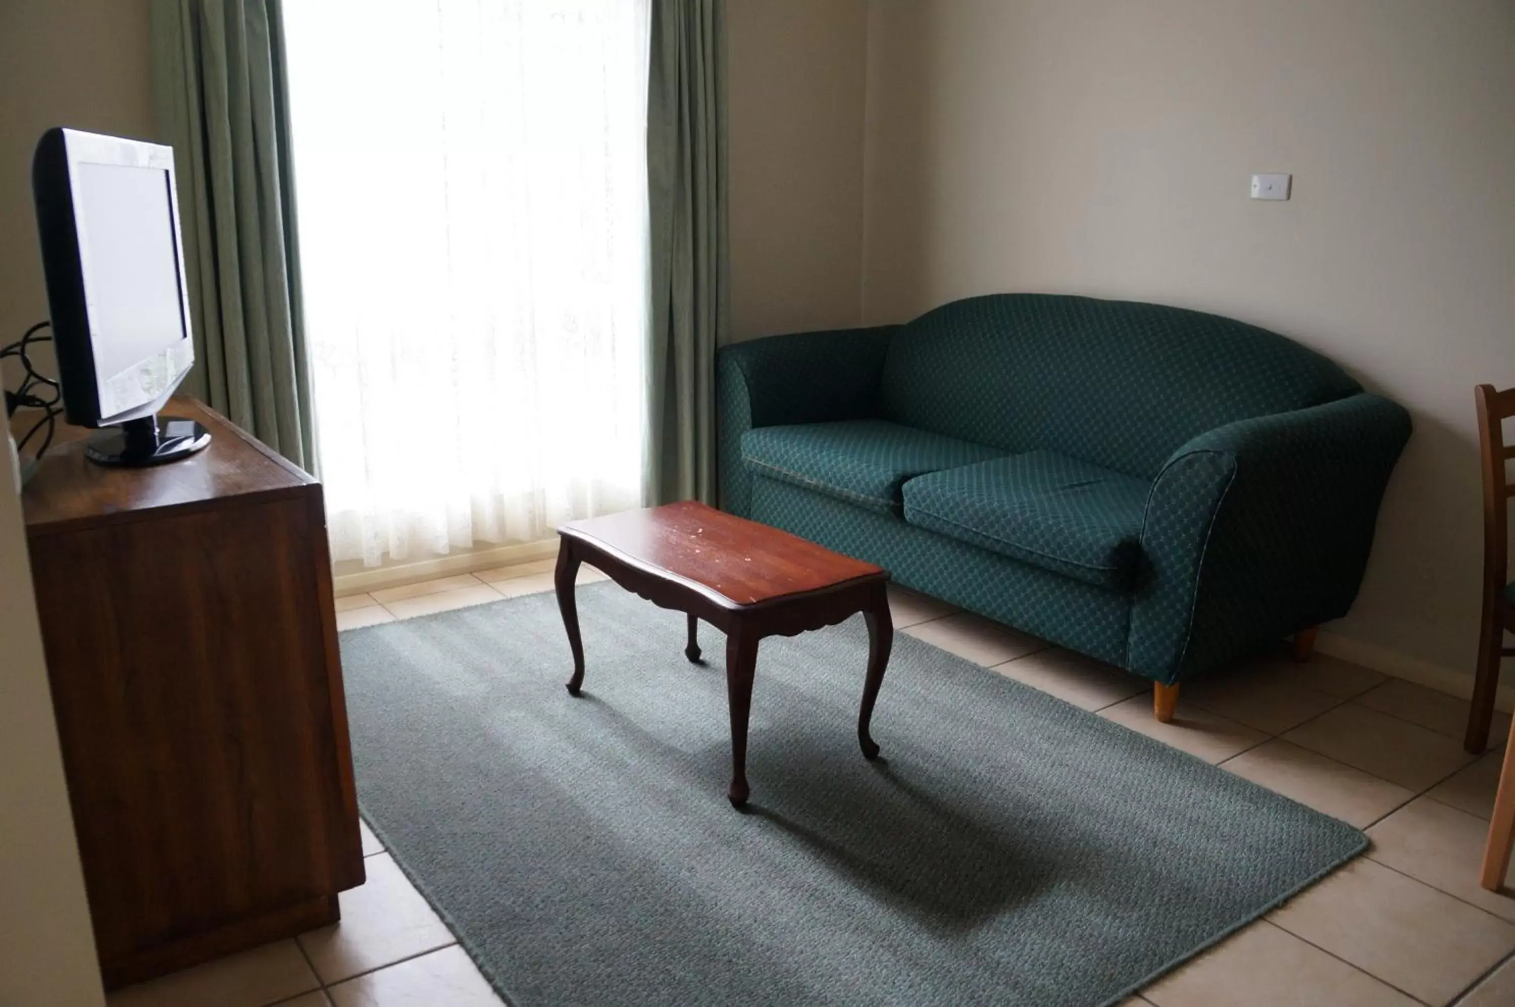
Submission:
M 636 506 L 648 0 L 289 0 L 333 559 Z

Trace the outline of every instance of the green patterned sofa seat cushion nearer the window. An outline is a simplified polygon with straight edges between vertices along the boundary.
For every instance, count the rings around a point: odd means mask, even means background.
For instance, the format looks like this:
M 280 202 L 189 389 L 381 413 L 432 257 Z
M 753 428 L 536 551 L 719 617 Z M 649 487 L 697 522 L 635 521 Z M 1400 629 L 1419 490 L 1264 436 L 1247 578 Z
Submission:
M 892 513 L 900 513 L 906 480 L 1000 454 L 883 419 L 759 427 L 742 435 L 747 471 Z

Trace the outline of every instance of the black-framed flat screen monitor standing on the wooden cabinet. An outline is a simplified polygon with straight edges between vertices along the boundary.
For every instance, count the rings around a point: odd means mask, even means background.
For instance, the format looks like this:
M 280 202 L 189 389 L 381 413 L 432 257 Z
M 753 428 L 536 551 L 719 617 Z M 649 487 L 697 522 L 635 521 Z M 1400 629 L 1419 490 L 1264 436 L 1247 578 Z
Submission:
M 194 363 L 173 148 L 52 129 L 32 192 L 68 422 L 120 424 L 123 448 L 153 448 L 142 463 L 170 460 L 156 413 Z

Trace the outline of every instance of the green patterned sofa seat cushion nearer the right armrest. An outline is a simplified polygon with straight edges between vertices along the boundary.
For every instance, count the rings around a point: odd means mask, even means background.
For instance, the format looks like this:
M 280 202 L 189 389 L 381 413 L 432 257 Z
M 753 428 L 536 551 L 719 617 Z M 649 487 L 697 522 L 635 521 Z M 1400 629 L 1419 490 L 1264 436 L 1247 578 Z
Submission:
M 1056 451 L 904 483 L 904 519 L 1101 588 L 1127 589 L 1151 483 Z

